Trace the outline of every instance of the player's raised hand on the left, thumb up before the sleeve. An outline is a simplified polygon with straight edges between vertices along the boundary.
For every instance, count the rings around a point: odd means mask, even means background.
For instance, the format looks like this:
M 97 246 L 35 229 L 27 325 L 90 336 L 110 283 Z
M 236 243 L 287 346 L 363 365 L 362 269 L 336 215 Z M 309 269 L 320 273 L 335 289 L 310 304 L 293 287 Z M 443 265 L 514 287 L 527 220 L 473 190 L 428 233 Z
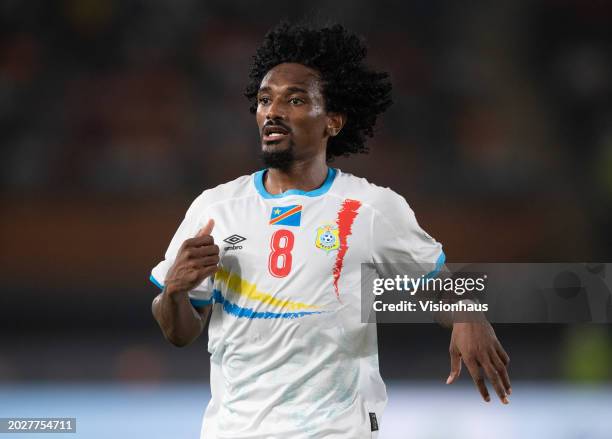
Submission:
M 208 220 L 195 238 L 183 242 L 166 275 L 167 294 L 187 293 L 218 270 L 219 247 L 210 235 L 214 226 L 215 221 Z

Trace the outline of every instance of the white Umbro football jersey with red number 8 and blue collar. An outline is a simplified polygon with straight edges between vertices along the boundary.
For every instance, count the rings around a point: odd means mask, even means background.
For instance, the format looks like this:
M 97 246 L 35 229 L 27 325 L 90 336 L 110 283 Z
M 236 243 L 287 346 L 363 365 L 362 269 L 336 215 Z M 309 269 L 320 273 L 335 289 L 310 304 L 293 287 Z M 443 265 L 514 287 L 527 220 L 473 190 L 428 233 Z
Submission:
M 264 173 L 204 191 L 152 271 L 163 288 L 183 241 L 214 219 L 220 269 L 189 293 L 213 304 L 201 437 L 376 437 L 387 395 L 361 264 L 439 269 L 442 246 L 388 188 L 329 168 L 316 190 L 272 195 Z

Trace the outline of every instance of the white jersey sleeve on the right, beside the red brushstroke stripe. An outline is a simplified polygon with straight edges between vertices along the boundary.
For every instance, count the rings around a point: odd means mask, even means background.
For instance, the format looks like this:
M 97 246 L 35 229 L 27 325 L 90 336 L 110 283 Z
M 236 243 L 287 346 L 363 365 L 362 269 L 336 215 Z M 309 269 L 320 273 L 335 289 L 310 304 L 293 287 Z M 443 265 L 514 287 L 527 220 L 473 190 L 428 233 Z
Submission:
M 408 270 L 437 276 L 446 259 L 442 244 L 419 226 L 404 197 L 387 189 L 379 207 L 372 216 L 373 262 L 384 264 L 377 265 L 379 274 Z

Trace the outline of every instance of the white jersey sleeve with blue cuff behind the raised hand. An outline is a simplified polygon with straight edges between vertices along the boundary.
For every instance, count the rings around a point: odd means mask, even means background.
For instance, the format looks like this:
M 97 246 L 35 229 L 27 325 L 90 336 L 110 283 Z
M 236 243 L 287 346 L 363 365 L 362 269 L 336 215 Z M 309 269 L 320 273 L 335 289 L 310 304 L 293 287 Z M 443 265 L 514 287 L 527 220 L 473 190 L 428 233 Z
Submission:
M 207 220 L 206 208 L 202 205 L 201 198 L 202 196 L 198 197 L 191 204 L 185 214 L 185 218 L 170 241 L 164 259 L 151 270 L 151 277 L 149 279 L 162 291 L 166 275 L 172 264 L 174 264 L 179 248 L 186 239 L 193 238 L 204 226 L 205 221 L 203 220 Z M 213 302 L 213 284 L 213 277 L 209 276 L 195 289 L 190 291 L 189 301 L 191 304 L 196 307 L 210 305 Z

